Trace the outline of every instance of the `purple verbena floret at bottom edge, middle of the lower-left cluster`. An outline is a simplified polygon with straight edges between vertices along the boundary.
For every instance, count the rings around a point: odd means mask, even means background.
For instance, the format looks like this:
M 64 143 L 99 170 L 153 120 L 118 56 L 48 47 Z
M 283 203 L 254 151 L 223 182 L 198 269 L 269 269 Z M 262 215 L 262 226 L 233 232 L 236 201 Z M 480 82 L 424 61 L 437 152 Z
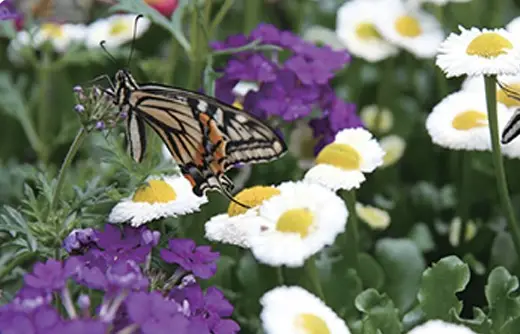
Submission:
M 138 324 L 143 334 L 187 333 L 189 320 L 179 312 L 174 300 L 164 298 L 159 292 L 135 292 L 126 299 L 129 319 Z

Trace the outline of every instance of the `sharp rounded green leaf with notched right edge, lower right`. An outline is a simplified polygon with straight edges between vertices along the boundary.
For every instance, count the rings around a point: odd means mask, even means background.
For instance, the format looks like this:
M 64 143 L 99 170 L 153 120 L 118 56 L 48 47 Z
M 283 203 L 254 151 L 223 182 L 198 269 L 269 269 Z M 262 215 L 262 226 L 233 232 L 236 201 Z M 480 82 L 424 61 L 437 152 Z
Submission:
M 428 319 L 450 321 L 450 311 L 459 314 L 462 302 L 455 295 L 469 282 L 469 267 L 456 256 L 441 259 L 423 273 L 419 302 Z

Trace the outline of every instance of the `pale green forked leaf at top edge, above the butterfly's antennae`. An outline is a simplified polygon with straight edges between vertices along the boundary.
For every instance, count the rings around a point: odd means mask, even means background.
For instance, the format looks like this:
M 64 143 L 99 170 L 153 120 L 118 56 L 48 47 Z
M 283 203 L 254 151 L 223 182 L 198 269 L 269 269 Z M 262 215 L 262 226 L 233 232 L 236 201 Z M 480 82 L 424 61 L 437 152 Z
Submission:
M 154 8 L 147 5 L 143 0 L 119 0 L 119 3 L 112 6 L 110 10 L 112 12 L 127 11 L 148 17 L 154 23 L 168 30 L 189 55 L 191 54 L 191 46 L 182 31 L 182 17 L 188 4 L 188 0 L 179 1 L 179 5 L 173 12 L 171 21 Z

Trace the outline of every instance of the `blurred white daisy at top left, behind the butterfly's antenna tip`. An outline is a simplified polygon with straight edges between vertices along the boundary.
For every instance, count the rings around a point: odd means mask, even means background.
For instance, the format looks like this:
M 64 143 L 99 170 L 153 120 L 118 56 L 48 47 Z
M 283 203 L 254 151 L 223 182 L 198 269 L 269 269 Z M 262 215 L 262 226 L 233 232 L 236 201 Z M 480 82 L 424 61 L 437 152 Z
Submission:
M 116 14 L 108 18 L 98 19 L 88 26 L 86 45 L 88 48 L 97 48 L 101 41 L 106 41 L 107 48 L 116 48 L 134 37 L 134 14 Z M 135 38 L 141 37 L 150 27 L 147 18 L 141 18 L 137 22 Z

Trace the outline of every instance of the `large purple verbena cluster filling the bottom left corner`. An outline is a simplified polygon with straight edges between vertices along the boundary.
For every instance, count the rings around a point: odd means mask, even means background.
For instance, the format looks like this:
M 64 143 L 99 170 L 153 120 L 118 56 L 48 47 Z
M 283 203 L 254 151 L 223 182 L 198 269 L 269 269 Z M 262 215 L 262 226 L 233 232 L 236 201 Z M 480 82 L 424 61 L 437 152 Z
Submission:
M 0 307 L 0 333 L 237 333 L 223 293 L 197 282 L 216 272 L 219 254 L 208 246 L 169 240 L 160 255 L 176 266 L 163 266 L 171 269 L 169 279 L 151 287 L 159 237 L 145 227 L 73 231 L 63 244 L 70 256 L 35 264 L 17 296 Z

